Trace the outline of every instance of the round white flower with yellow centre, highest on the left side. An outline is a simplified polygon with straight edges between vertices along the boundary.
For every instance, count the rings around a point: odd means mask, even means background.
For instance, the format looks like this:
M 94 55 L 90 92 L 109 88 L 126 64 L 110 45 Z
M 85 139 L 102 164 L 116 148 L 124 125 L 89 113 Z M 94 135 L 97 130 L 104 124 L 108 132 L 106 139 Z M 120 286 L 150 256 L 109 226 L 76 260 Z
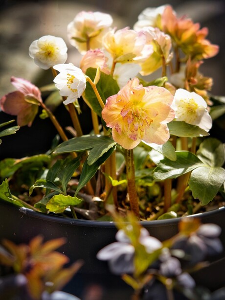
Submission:
M 45 35 L 31 43 L 29 55 L 34 59 L 36 65 L 46 70 L 66 62 L 67 45 L 62 38 Z

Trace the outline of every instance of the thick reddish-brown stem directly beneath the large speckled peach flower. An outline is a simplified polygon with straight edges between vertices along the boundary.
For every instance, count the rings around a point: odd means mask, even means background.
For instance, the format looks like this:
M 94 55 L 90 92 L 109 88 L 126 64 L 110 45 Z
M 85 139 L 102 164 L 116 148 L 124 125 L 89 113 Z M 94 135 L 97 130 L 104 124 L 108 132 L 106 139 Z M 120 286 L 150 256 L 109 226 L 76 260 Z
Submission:
M 135 186 L 135 163 L 133 149 L 126 150 L 126 173 L 127 173 L 127 188 L 130 200 L 131 210 L 139 217 L 139 204 Z

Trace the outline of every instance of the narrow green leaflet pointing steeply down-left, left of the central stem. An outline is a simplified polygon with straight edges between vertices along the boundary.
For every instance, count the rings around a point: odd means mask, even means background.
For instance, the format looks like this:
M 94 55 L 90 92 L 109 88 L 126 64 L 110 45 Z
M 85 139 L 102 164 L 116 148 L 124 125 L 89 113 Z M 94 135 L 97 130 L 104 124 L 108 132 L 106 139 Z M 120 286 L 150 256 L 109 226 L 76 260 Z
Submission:
M 77 189 L 76 189 L 75 196 L 78 194 L 78 192 L 81 190 L 81 188 L 84 187 L 90 181 L 90 179 L 97 172 L 97 169 L 99 168 L 99 166 L 103 162 L 105 162 L 108 159 L 108 157 L 111 156 L 111 154 L 114 150 L 115 150 L 115 146 L 110 148 L 108 150 L 108 152 L 104 153 L 103 156 L 101 156 L 96 162 L 94 162 L 91 165 L 88 164 L 87 160 L 84 162 L 82 172 L 81 172 L 81 176 L 80 176 L 80 180 L 79 180 L 79 184 L 78 184 Z

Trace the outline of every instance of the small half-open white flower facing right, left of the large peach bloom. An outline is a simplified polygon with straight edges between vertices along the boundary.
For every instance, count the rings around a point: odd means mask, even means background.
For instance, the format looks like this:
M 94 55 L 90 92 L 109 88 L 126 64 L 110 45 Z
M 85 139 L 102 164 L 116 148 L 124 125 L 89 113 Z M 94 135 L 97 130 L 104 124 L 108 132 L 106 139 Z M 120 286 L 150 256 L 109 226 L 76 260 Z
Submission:
M 60 73 L 55 77 L 54 83 L 59 93 L 67 97 L 64 104 L 75 102 L 86 88 L 86 77 L 81 69 L 73 64 L 59 64 L 53 67 Z

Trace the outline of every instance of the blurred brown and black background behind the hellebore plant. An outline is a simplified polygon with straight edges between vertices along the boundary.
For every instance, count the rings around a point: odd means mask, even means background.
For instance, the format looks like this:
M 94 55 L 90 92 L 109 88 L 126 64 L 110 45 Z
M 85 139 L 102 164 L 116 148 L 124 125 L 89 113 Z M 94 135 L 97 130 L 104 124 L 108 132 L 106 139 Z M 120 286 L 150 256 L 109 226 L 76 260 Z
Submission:
M 67 62 L 79 66 L 81 56 L 68 43 L 67 24 L 80 11 L 109 13 L 114 20 L 113 26 L 118 29 L 125 26 L 133 28 L 138 15 L 146 7 L 163 4 L 172 5 L 179 17 L 186 15 L 195 23 L 199 22 L 201 28 L 209 28 L 207 38 L 212 44 L 220 46 L 220 52 L 205 60 L 200 71 L 204 76 L 213 78 L 211 92 L 214 95 L 225 95 L 224 0 L 0 0 L 0 97 L 15 91 L 10 83 L 11 76 L 30 80 L 38 87 L 52 83 L 51 71 L 37 67 L 28 55 L 30 44 L 44 35 L 62 37 L 68 47 Z M 84 112 L 85 107 L 82 109 Z M 65 107 L 59 107 L 55 115 L 61 124 L 71 125 Z M 0 123 L 12 118 L 0 112 Z M 88 112 L 81 115 L 82 128 L 88 124 L 89 118 Z M 85 128 L 85 133 L 89 132 L 90 129 Z M 13 137 L 2 139 L 0 159 L 10 156 L 20 158 L 47 151 L 55 135 L 55 128 L 48 119 L 36 117 L 32 127 L 24 126 Z

